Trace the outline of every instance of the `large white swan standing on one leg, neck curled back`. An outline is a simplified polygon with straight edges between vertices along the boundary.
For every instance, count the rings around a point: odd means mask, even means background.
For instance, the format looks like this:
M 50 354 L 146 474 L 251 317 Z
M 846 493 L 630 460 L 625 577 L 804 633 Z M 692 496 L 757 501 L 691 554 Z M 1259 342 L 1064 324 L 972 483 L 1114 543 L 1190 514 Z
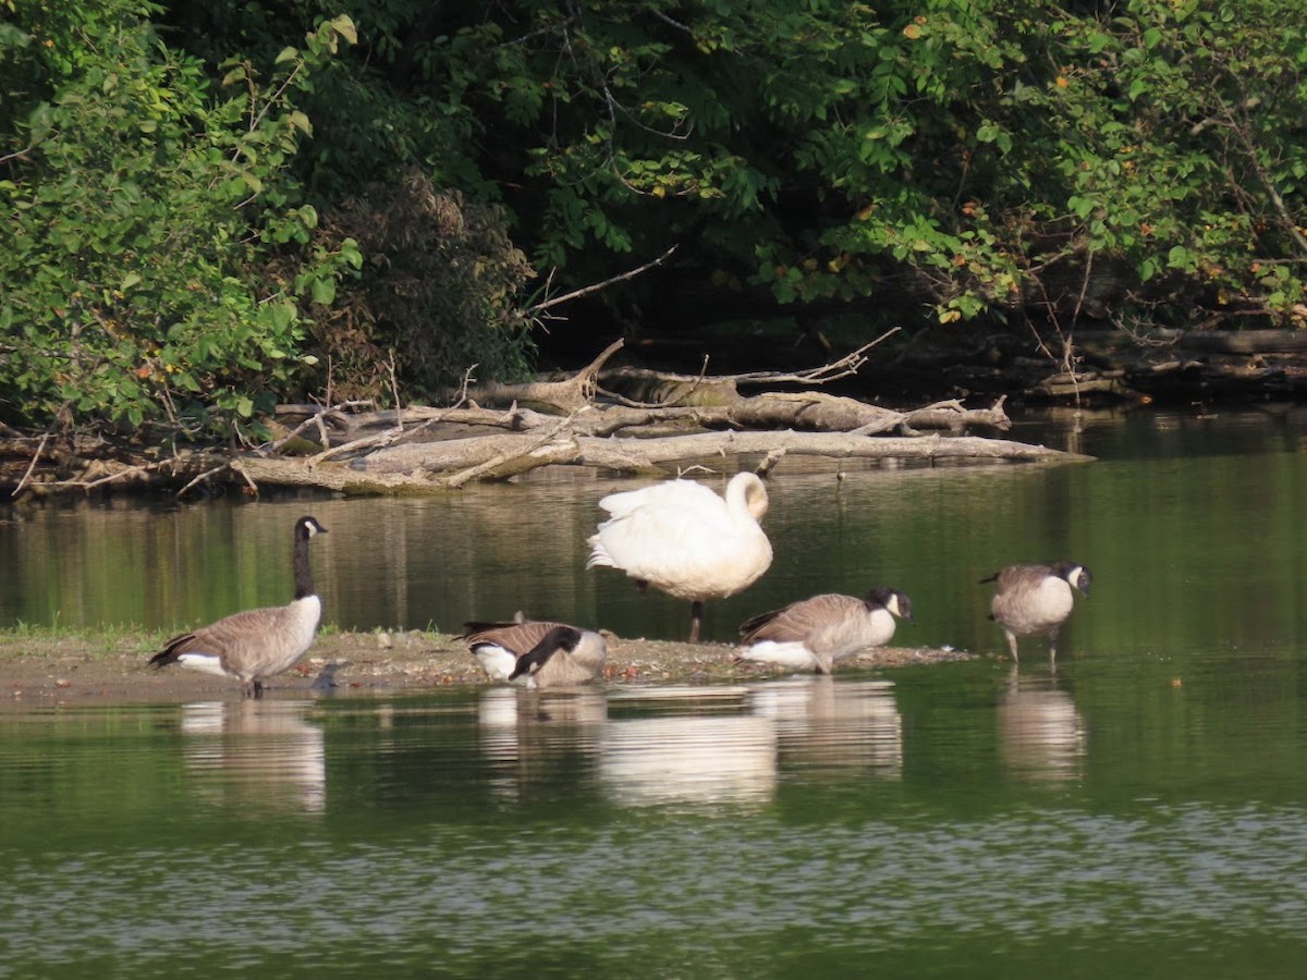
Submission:
M 648 585 L 690 600 L 690 643 L 699 642 L 703 601 L 752 585 L 771 566 L 771 542 L 758 521 L 767 489 L 753 473 L 736 473 L 725 499 L 693 480 L 670 480 L 609 494 L 610 515 L 589 538 L 587 568 L 620 568 Z

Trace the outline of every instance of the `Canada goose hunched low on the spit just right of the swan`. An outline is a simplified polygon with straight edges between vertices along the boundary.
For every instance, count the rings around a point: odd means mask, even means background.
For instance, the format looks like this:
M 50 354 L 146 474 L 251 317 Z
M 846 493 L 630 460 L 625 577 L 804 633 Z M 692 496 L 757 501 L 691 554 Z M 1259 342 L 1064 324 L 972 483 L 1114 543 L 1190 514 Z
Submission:
M 912 622 L 912 601 L 897 589 L 876 588 L 867 598 L 813 596 L 744 623 L 740 659 L 829 674 L 840 660 L 889 643 L 894 617 Z

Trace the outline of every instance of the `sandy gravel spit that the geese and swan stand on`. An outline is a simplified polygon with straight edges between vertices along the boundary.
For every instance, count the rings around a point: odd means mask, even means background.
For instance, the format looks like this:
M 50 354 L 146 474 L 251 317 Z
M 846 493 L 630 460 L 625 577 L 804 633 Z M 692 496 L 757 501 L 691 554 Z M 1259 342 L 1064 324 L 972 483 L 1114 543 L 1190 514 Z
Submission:
M 48 704 L 115 704 L 239 698 L 239 686 L 221 677 L 148 666 L 149 648 L 123 638 L 94 643 L 82 638 L 9 636 L 0 643 L 0 711 Z M 766 665 L 736 664 L 736 647 L 609 636 L 606 682 L 721 683 L 787 673 Z M 974 655 L 921 647 L 881 647 L 844 669 L 970 660 Z M 329 682 L 335 681 L 335 686 Z M 268 696 L 302 698 L 329 689 L 336 695 L 417 693 L 490 683 L 457 636 L 430 632 L 333 632 L 320 636 L 290 672 L 267 685 Z

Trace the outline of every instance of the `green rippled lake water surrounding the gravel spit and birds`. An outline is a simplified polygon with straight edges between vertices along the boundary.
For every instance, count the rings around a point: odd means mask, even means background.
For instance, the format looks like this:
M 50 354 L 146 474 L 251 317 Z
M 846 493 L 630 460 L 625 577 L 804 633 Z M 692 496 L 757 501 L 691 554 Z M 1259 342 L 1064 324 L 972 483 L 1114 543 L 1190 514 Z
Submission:
M 1018 426 L 1082 466 L 771 481 L 729 639 L 819 591 L 991 656 L 731 686 L 0 710 L 0 977 L 1297 977 L 1307 954 L 1307 416 Z M 625 486 L 631 486 L 626 483 Z M 584 570 L 561 480 L 443 500 L 0 517 L 0 625 L 184 626 L 285 601 L 312 512 L 328 621 L 557 615 L 681 638 Z M 976 580 L 1095 575 L 1056 672 Z M 3 679 L 3 678 L 0 678 Z M 142 695 L 148 698 L 148 691 Z

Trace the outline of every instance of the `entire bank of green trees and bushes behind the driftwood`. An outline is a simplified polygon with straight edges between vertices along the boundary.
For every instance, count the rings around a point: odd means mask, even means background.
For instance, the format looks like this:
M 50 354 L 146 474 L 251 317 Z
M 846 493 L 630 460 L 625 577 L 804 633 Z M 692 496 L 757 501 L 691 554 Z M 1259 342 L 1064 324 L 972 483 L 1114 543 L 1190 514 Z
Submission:
M 1307 321 L 1289 0 L 356 7 L 0 0 L 0 413 L 520 376 L 532 267 L 670 244 L 796 318 Z

